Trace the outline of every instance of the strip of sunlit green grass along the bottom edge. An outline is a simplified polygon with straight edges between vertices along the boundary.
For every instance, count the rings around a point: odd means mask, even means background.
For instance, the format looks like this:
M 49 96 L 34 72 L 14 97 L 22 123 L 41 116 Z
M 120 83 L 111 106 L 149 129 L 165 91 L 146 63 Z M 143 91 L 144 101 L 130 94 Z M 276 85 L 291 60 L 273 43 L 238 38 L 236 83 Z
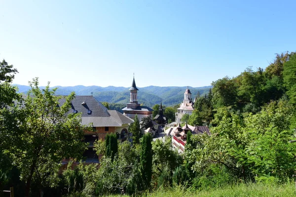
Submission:
M 120 197 L 120 195 L 114 197 Z M 147 194 L 147 197 L 296 197 L 296 188 L 294 183 L 283 185 L 238 184 L 193 192 L 176 187 L 168 190 L 158 189 Z

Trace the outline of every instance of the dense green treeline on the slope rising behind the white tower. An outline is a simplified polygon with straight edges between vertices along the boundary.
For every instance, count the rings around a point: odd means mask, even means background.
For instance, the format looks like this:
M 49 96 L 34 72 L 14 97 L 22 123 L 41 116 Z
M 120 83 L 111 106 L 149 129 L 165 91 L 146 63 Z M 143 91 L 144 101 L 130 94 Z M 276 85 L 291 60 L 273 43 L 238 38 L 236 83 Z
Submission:
M 295 59 L 294 52 L 276 54 L 275 60 L 265 70 L 248 67 L 236 77 L 226 76 L 214 81 L 213 89 L 207 95 L 197 95 L 189 124 L 216 126 L 223 110 L 246 117 L 249 113 L 258 113 L 262 106 L 271 101 L 282 98 L 295 104 Z

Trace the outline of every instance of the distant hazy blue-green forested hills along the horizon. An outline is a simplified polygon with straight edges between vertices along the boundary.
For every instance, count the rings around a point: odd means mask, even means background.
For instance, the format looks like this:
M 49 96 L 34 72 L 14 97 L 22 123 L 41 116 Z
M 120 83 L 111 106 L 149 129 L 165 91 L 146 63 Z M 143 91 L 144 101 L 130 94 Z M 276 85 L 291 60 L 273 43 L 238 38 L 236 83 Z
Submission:
M 30 87 L 24 85 L 16 85 L 18 86 L 20 93 L 26 93 Z M 44 88 L 44 87 L 41 87 Z M 70 86 L 70 87 L 62 87 L 55 86 L 52 88 L 58 88 L 56 91 L 57 95 L 69 95 L 71 92 L 75 92 L 76 95 L 91 95 L 99 100 L 100 102 L 109 102 L 109 103 L 118 103 L 118 104 L 126 104 L 129 102 L 129 88 L 125 87 L 100 87 L 100 86 Z M 185 87 L 159 87 L 159 86 L 148 86 L 144 88 L 139 88 L 138 92 L 138 100 L 140 103 L 148 107 L 152 107 L 155 104 L 159 104 L 162 99 L 162 103 L 166 106 L 171 106 L 175 104 L 179 104 L 183 101 L 184 92 L 186 90 Z M 189 89 L 192 93 L 192 98 L 197 95 L 197 92 L 200 95 L 205 95 L 209 92 L 211 86 L 197 87 L 193 88 L 189 86 Z

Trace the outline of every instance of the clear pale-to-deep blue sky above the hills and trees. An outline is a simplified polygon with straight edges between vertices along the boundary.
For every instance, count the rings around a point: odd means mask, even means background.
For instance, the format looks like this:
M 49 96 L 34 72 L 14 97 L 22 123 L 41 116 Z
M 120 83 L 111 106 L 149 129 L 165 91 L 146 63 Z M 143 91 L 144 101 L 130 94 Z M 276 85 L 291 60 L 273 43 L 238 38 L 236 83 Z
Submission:
M 50 86 L 209 86 L 296 51 L 295 0 L 0 0 L 0 60 Z

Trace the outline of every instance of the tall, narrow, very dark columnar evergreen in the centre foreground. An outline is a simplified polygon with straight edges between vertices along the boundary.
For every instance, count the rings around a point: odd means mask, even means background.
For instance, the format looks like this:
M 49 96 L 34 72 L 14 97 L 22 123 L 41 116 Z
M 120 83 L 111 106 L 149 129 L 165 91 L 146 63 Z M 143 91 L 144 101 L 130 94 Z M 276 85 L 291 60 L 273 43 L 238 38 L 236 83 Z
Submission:
M 150 181 L 152 176 L 152 136 L 150 133 L 147 133 L 143 136 L 141 143 L 141 154 L 140 154 L 140 163 L 141 163 L 141 173 L 142 179 L 144 180 L 145 186 L 150 187 Z

